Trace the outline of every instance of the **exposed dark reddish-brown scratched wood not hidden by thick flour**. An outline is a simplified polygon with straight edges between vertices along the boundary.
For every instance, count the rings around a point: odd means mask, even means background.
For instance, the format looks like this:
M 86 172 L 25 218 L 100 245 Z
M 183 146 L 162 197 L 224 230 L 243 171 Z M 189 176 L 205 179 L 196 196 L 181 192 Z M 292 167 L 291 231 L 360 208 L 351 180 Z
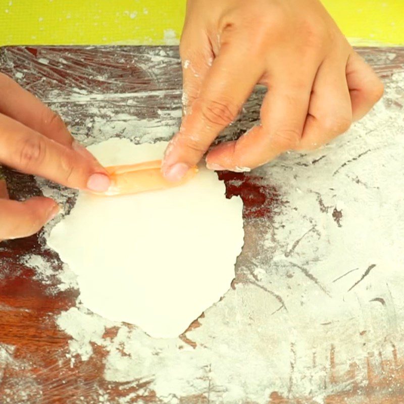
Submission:
M 395 73 L 404 72 L 402 48 L 361 48 L 359 52 L 385 82 L 394 80 Z M 96 140 L 98 132 L 94 127 L 99 120 L 108 121 L 109 128 L 115 128 L 110 135 L 118 136 L 126 136 L 126 129 L 132 128 L 134 121 L 140 121 L 140 125 L 146 122 L 146 126 L 147 122 L 154 122 L 153 125 L 159 125 L 160 122 L 170 128 L 179 122 L 179 115 L 172 113 L 180 109 L 181 102 L 181 73 L 175 48 L 6 47 L 0 49 L 0 66 L 2 72 L 14 77 L 22 86 L 57 110 L 73 133 L 86 144 Z M 225 136 L 238 136 L 251 122 L 257 121 L 262 95 L 263 90 L 257 90 L 246 103 L 239 121 L 226 131 Z M 93 108 L 87 108 L 88 104 Z M 397 119 L 402 119 L 402 104 L 397 98 L 389 98 L 387 94 L 387 107 L 389 104 L 396 109 Z M 123 112 L 125 115 L 122 115 Z M 154 130 L 155 127 L 147 126 L 146 130 L 139 130 L 131 136 L 134 141 L 154 140 L 159 137 L 150 137 L 150 133 L 155 133 Z M 173 130 L 169 132 L 170 130 L 160 137 L 169 137 Z M 317 164 L 317 161 L 324 158 L 321 155 L 316 156 L 310 160 L 310 164 Z M 5 170 L 5 175 L 13 198 L 40 195 L 42 192 L 38 181 L 32 176 L 9 169 Z M 286 199 L 282 189 L 260 171 L 250 175 L 221 173 L 220 178 L 226 183 L 227 196 L 240 195 L 244 202 L 246 246 L 237 261 L 233 291 L 244 284 L 255 284 L 261 292 L 272 293 L 274 313 L 286 312 L 287 302 L 261 283 L 254 271 L 251 272 L 250 263 L 268 253 L 259 242 L 260 238 L 268 233 L 275 217 L 283 207 L 290 205 L 290 201 Z M 76 193 L 69 193 L 49 184 L 47 187 L 64 195 L 63 203 L 67 214 L 74 205 Z M 343 220 L 341 209 L 337 206 L 324 206 L 321 195 L 318 201 L 322 213 L 329 215 L 335 225 L 339 226 Z M 292 255 L 296 246 L 297 244 L 293 244 L 285 256 Z M 105 358 L 109 352 L 102 344 L 92 343 L 93 353 L 89 359 L 77 359 L 72 363 L 69 347 L 72 337 L 57 326 L 56 318 L 77 305 L 79 291 L 74 288 L 59 290 L 60 281 L 56 276 L 46 283 L 42 282 L 36 276 L 36 269 L 25 265 L 21 260 L 29 255 L 43 257 L 55 274 L 62 269 L 57 254 L 46 247 L 43 232 L 0 244 L 0 403 L 226 402 L 217 398 L 221 394 L 220 390 L 216 391 L 216 398 L 212 398 L 214 392 L 211 393 L 210 387 L 208 392 L 195 389 L 190 394 L 175 396 L 175 399 L 159 396 L 159 392 L 151 387 L 153 375 L 131 381 L 108 381 L 105 378 Z M 402 266 L 402 257 L 400 260 Z M 298 263 L 293 265 L 299 267 Z M 373 270 L 372 265 L 375 264 L 369 263 L 369 267 L 364 268 L 366 271 L 363 277 Z M 318 283 L 316 287 L 326 290 L 327 286 L 323 286 L 305 271 L 304 268 L 301 269 L 307 282 L 315 281 Z M 341 276 L 345 272 L 347 271 L 342 271 Z M 286 274 L 285 277 L 291 278 L 292 275 Z M 356 285 L 352 287 L 354 286 Z M 384 299 L 376 298 L 381 299 L 381 304 L 385 304 Z M 192 332 L 205 327 L 206 317 L 202 315 L 195 320 L 188 332 L 181 336 L 183 344 L 191 346 L 195 351 L 198 349 L 198 342 L 192 338 Z M 115 338 L 119 328 L 120 325 L 106 328 L 104 338 Z M 383 332 L 389 335 L 390 331 L 391 334 L 395 332 L 393 329 Z M 226 333 L 226 329 L 222 332 Z M 339 331 L 336 329 L 335 332 Z M 367 332 L 366 328 L 360 329 L 364 345 Z M 350 336 L 347 335 L 346 338 Z M 334 392 L 327 393 L 321 399 L 318 398 L 322 390 L 319 387 L 321 383 L 313 382 L 313 388 L 306 392 L 301 389 L 299 391 L 298 386 L 296 387 L 305 375 L 293 375 L 295 359 L 292 355 L 286 359 L 292 369 L 287 393 L 272 389 L 269 376 L 266 402 L 401 404 L 404 402 L 404 352 L 399 347 L 404 345 L 397 338 L 394 334 L 391 339 L 386 339 L 389 341 L 388 350 L 391 355 L 378 356 L 377 350 L 376 354 L 372 350 L 365 357 L 364 363 L 351 361 L 343 364 L 346 365 L 343 367 L 346 368 L 344 371 L 340 370 L 341 364 L 338 364 L 339 346 L 330 344 L 322 383 L 324 391 L 329 391 L 327 386 L 331 385 Z M 243 343 L 241 333 L 239 339 Z M 293 346 L 292 344 L 292 354 Z M 278 348 L 271 346 L 271 349 L 275 351 Z M 378 356 L 377 366 L 375 356 Z M 315 362 L 314 348 L 313 367 L 316 366 Z M 365 374 L 358 370 L 363 366 L 367 369 Z M 246 398 L 243 402 L 258 401 Z

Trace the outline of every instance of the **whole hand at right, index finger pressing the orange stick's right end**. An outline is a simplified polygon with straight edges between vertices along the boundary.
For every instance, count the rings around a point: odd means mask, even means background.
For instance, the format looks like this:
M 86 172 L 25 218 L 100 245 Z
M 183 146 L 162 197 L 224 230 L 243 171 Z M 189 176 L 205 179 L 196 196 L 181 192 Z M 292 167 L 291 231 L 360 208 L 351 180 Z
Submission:
M 188 0 L 180 43 L 184 116 L 163 174 L 178 180 L 232 123 L 259 83 L 259 125 L 213 147 L 213 170 L 249 171 L 345 132 L 383 84 L 318 0 Z

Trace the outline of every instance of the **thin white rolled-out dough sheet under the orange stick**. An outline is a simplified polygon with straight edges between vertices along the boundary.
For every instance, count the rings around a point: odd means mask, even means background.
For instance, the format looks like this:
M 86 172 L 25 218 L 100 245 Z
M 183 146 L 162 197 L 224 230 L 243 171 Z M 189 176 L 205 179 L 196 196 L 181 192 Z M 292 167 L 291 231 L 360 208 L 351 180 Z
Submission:
M 166 142 L 112 138 L 88 149 L 105 166 L 161 159 Z M 176 337 L 229 289 L 243 244 L 242 201 L 200 169 L 169 190 L 99 197 L 80 192 L 48 244 L 78 276 L 80 299 L 153 337 Z

